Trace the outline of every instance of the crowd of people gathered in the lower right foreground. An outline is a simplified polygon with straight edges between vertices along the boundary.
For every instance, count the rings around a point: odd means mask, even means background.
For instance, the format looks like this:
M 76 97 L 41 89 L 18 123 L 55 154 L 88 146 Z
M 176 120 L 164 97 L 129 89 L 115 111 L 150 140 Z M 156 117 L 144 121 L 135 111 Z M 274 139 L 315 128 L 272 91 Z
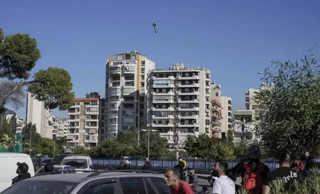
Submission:
M 242 158 L 231 169 L 228 169 L 226 161 L 216 160 L 213 176 L 217 178 L 213 179 L 212 194 L 236 194 L 240 188 L 244 188 L 247 194 L 270 194 L 272 185 L 279 184 L 283 184 L 286 190 L 294 192 L 295 181 L 302 183 L 313 176 L 314 168 L 320 168 L 320 155 L 308 153 L 305 166 L 298 157 L 292 161 L 290 154 L 283 152 L 279 157 L 279 167 L 270 171 L 269 167 L 260 161 L 258 146 L 251 146 L 248 151 L 247 157 Z M 174 168 L 165 171 L 164 180 L 170 186 L 171 194 L 197 194 L 198 178 L 194 178 L 196 177 L 194 168 L 188 168 L 188 182 L 184 175 L 185 168 L 186 164 L 179 162 Z M 235 184 L 237 177 L 241 177 L 242 187 Z

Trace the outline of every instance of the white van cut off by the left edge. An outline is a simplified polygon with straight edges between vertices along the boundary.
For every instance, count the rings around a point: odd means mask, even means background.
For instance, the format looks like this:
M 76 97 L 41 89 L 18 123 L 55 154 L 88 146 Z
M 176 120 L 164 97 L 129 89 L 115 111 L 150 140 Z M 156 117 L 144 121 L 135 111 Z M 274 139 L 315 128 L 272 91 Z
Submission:
M 33 163 L 28 154 L 0 153 L 0 193 L 11 186 L 12 179 L 16 176 L 17 163 L 25 162 L 29 166 L 28 173 L 34 176 Z

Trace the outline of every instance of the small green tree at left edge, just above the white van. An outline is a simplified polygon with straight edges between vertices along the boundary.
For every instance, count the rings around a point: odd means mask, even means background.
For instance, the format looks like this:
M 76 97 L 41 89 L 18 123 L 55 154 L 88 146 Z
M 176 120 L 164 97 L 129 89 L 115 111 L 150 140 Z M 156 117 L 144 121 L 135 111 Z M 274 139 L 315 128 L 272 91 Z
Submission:
M 3 118 L 4 115 L 0 114 L 0 148 L 10 148 L 17 145 L 12 131 L 12 120 L 7 121 Z

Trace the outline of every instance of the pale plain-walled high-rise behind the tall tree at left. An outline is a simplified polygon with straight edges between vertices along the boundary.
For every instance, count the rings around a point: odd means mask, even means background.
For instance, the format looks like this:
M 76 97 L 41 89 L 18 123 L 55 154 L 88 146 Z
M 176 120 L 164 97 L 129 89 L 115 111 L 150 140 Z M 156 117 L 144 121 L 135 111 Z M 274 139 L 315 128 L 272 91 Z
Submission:
M 48 119 L 50 111 L 45 108 L 44 102 L 34 98 L 31 93 L 27 95 L 26 124 L 36 125 L 37 132 L 41 137 L 47 137 Z

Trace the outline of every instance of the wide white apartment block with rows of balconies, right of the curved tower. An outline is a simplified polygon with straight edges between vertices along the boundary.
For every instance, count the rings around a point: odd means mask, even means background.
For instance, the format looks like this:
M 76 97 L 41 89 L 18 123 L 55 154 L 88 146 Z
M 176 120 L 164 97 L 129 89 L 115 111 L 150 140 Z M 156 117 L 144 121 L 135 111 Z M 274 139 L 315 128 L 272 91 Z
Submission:
M 210 71 L 173 64 L 149 74 L 148 125 L 168 140 L 167 148 L 183 148 L 187 135 L 210 134 Z

